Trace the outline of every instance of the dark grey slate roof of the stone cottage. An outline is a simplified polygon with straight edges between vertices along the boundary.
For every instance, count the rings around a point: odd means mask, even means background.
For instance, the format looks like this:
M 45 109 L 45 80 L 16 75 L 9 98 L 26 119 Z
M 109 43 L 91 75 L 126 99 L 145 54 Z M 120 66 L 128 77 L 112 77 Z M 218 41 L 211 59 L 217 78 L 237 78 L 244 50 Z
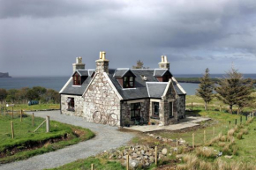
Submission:
M 122 96 L 124 100 L 135 100 L 135 99 L 143 99 L 143 98 L 161 98 L 163 92 L 165 91 L 167 82 L 159 82 L 157 78 L 155 78 L 155 73 L 157 75 L 163 75 L 166 71 L 169 70 L 154 70 L 154 69 L 130 69 L 134 74 L 135 78 L 135 87 L 134 88 L 123 88 L 117 78 L 121 78 L 124 74 L 129 71 L 129 69 L 109 69 L 109 79 L 115 85 L 117 92 Z M 79 70 L 79 74 L 87 75 L 89 70 Z M 92 72 L 93 73 L 93 72 Z M 170 73 L 169 73 L 170 74 Z M 142 77 L 146 77 L 147 80 Z M 91 77 L 89 76 L 85 82 L 81 86 L 73 86 L 72 78 L 69 80 L 68 84 L 64 87 L 64 89 L 60 92 L 61 94 L 75 94 L 82 95 L 89 85 L 91 81 Z M 175 80 L 175 79 L 174 79 Z M 179 87 L 177 81 L 172 81 L 175 91 L 177 94 L 185 94 L 182 87 Z

